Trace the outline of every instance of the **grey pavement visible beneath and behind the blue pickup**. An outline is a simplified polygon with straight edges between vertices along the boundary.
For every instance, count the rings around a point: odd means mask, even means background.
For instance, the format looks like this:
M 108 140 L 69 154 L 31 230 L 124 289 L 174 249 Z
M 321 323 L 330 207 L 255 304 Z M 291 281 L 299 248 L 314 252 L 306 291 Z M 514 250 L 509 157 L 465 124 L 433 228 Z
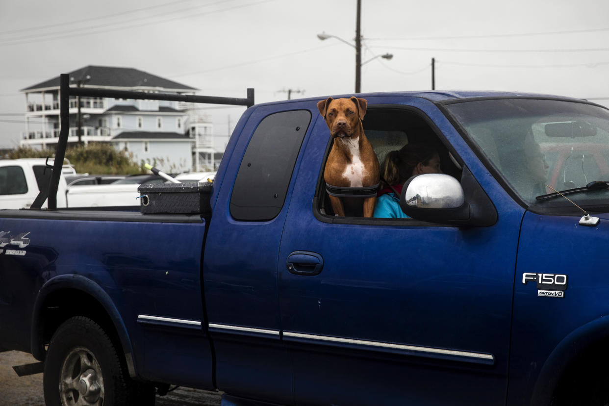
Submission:
M 43 406 L 42 374 L 18 377 L 13 365 L 37 362 L 25 352 L 0 352 L 0 406 Z M 157 406 L 217 406 L 220 394 L 178 388 L 167 396 L 157 396 Z

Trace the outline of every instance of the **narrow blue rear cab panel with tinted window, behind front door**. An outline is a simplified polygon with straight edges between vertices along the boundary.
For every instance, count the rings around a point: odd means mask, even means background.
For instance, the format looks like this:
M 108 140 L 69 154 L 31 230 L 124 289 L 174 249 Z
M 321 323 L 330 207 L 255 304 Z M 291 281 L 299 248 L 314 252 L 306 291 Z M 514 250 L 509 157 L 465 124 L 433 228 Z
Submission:
M 220 189 L 203 266 L 217 387 L 278 404 L 294 399 L 292 366 L 281 343 L 277 255 L 292 170 L 312 117 L 298 104 L 290 108 L 258 107 L 238 124 L 240 136 L 227 147 L 233 156 L 214 180 Z

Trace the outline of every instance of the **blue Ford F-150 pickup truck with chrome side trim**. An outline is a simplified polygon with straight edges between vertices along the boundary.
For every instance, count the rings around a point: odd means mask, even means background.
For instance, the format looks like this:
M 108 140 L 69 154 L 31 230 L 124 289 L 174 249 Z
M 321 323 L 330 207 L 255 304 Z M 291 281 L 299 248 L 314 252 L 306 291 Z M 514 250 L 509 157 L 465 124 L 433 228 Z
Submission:
M 209 210 L 0 211 L 0 348 L 44 362 L 47 404 L 607 404 L 607 108 L 357 96 L 379 161 L 439 152 L 410 218 L 334 215 L 325 97 L 248 108 Z

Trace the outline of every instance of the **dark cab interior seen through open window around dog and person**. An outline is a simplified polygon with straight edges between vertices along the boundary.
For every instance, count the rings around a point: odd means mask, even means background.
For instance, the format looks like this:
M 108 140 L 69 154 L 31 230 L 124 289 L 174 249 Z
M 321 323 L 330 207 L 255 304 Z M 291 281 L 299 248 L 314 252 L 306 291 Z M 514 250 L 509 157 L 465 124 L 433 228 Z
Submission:
M 409 143 L 422 142 L 433 145 L 437 150 L 438 155 L 440 155 L 442 172 L 460 179 L 460 167 L 455 164 L 454 158 L 449 157 L 448 149 L 440 140 L 440 131 L 431 124 L 431 121 L 421 111 L 395 105 L 368 105 L 363 124 L 366 138 L 370 141 L 381 168 L 385 156 L 390 151 L 400 150 Z M 328 159 L 332 142 L 331 139 L 326 149 L 325 160 Z M 319 212 L 322 215 L 334 216 L 328 193 L 323 187 L 325 185 L 323 183 L 323 167 L 321 171 L 320 187 L 318 189 Z M 357 207 L 359 205 L 352 206 Z M 357 209 L 347 211 L 345 214 L 346 217 L 361 218 L 363 216 L 363 213 Z

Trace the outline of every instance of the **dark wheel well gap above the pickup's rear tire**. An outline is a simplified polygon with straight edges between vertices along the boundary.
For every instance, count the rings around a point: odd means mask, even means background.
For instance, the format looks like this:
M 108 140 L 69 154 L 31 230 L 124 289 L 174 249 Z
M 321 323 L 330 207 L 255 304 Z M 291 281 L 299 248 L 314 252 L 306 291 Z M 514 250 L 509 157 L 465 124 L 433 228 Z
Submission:
M 49 293 L 41 307 L 40 343 L 46 348 L 57 328 L 74 316 L 84 316 L 99 324 L 117 349 L 122 350 L 121 340 L 108 312 L 93 296 L 78 289 L 60 289 Z M 122 352 L 122 351 L 121 351 Z

